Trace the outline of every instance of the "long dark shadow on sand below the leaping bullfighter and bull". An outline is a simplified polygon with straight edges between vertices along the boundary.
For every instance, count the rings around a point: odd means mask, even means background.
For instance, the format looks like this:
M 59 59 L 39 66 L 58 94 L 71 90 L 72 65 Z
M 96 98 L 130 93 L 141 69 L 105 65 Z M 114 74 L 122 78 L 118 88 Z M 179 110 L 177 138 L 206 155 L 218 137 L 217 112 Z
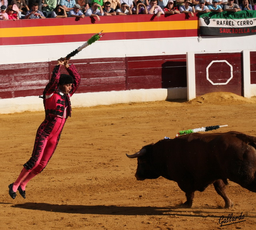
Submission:
M 230 210 L 209 208 L 209 211 L 202 208 L 182 209 L 180 206 L 169 207 L 136 207 L 136 206 L 105 206 L 105 205 L 68 205 L 68 204 L 48 204 L 48 203 L 24 203 L 14 204 L 14 208 L 24 208 L 30 210 L 41 210 L 46 212 L 63 212 L 73 214 L 98 214 L 98 215 L 147 215 L 147 216 L 189 216 L 189 217 L 211 217 L 219 218 Z M 253 215 L 252 217 L 255 217 Z

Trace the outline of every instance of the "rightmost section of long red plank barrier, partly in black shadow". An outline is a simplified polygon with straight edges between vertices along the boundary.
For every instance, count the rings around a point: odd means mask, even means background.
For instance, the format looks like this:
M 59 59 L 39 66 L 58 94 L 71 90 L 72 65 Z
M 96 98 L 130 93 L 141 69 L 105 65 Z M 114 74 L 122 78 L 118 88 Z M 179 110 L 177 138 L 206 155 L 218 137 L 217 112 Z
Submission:
M 186 55 L 126 58 L 127 89 L 186 87 Z

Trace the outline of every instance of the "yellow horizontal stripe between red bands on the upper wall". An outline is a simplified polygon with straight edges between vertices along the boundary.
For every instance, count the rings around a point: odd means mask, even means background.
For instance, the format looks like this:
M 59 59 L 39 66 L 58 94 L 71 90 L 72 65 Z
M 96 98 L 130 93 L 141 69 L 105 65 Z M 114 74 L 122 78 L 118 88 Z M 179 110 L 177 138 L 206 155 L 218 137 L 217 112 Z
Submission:
M 0 38 L 198 29 L 198 20 L 0 28 Z

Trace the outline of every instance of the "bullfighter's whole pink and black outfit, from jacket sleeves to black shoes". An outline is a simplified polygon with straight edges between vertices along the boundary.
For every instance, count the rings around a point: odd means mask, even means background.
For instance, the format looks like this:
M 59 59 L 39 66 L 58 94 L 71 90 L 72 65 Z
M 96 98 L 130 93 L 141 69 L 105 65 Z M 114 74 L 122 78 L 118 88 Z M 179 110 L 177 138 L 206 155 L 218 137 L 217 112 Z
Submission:
M 16 197 L 14 186 L 16 186 L 16 190 L 18 189 L 22 197 L 26 198 L 26 183 L 46 167 L 57 147 L 63 126 L 68 116 L 71 116 L 70 97 L 76 92 L 81 79 L 73 64 L 66 69 L 73 80 L 66 74 L 60 74 L 60 67 L 61 65 L 55 66 L 52 78 L 43 92 L 42 98 L 44 99 L 46 116 L 37 130 L 32 156 L 23 165 L 24 168 L 16 182 L 9 185 L 9 194 L 13 199 Z M 58 88 L 62 75 L 66 75 L 72 80 L 72 90 L 68 94 L 63 94 Z

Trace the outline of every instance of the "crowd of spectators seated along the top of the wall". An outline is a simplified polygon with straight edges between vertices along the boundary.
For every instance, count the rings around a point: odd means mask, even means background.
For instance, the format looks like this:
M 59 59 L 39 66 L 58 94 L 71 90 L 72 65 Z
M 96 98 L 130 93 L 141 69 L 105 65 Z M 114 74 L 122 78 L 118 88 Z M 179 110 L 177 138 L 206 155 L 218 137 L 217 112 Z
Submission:
M 256 0 L 0 0 L 0 20 L 256 10 Z

